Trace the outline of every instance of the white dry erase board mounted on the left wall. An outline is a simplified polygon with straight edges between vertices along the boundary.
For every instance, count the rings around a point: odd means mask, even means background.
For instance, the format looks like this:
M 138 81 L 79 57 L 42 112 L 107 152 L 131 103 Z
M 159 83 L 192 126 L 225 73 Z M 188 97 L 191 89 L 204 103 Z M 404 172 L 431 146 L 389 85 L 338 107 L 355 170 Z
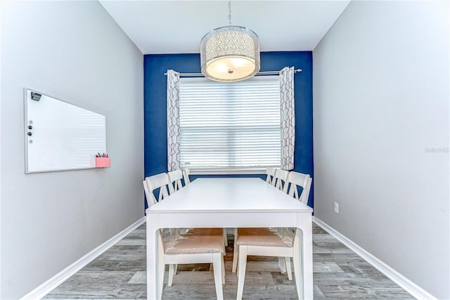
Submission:
M 25 173 L 95 168 L 106 153 L 106 118 L 25 89 Z

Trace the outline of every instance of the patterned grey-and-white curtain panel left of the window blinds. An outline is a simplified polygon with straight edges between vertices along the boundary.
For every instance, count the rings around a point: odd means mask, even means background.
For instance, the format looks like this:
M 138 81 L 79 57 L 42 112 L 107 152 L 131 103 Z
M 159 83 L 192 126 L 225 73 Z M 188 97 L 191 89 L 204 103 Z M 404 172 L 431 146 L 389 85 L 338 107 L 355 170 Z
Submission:
M 167 171 L 180 170 L 180 74 L 167 70 Z

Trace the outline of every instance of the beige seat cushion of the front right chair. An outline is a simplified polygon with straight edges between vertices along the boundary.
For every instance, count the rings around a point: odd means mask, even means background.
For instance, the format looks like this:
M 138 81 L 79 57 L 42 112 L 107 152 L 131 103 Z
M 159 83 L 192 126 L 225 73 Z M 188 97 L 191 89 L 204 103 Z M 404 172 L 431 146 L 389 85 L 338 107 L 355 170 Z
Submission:
M 286 232 L 290 232 L 286 230 Z M 281 237 L 276 230 L 269 228 L 239 228 L 238 245 L 292 247 L 293 235 Z

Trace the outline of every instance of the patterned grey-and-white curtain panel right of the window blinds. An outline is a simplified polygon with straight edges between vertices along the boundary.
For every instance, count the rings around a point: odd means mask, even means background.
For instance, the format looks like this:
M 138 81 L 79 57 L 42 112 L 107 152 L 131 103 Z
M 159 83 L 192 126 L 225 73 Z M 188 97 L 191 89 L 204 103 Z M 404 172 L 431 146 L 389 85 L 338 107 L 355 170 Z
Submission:
M 294 67 L 280 71 L 281 169 L 293 170 L 295 145 Z

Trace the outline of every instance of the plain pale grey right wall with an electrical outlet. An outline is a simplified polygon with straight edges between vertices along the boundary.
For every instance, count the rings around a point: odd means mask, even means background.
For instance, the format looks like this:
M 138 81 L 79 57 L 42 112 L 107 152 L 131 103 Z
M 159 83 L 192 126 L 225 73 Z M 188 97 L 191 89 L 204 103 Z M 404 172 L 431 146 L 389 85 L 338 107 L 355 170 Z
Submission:
M 448 1 L 352 1 L 313 51 L 316 217 L 439 299 L 449 53 Z

